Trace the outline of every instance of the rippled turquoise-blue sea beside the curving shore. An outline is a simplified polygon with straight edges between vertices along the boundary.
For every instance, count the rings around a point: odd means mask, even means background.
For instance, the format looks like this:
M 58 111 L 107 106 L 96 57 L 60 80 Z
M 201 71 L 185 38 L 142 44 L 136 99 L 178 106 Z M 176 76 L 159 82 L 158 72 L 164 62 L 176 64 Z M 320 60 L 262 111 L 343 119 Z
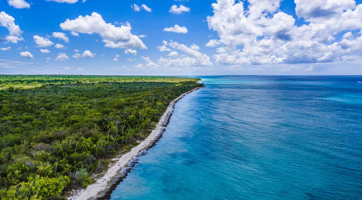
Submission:
M 362 199 L 362 76 L 205 76 L 111 199 Z

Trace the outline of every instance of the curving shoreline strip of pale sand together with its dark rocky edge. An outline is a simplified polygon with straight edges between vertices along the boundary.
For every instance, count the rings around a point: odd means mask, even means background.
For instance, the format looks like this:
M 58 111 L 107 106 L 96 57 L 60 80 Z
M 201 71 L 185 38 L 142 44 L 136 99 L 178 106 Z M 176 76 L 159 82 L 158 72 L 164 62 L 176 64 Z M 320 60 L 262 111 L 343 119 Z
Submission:
M 166 127 L 170 121 L 172 113 L 174 111 L 176 103 L 182 99 L 186 94 L 194 92 L 202 87 L 198 87 L 190 90 L 184 94 L 181 94 L 179 97 L 174 99 L 167 107 L 167 110 L 161 116 L 156 127 L 152 130 L 150 135 L 147 136 L 142 142 L 137 146 L 133 147 L 129 152 L 123 154 L 119 158 L 114 158 L 117 162 L 111 164 L 105 174 L 98 178 L 97 181 L 93 184 L 88 185 L 85 189 L 80 189 L 75 191 L 75 194 L 68 197 L 68 200 L 87 200 L 87 199 L 97 199 L 104 200 L 109 199 L 111 193 L 118 186 L 120 182 L 134 166 L 139 163 L 140 156 L 147 153 L 149 149 L 156 144 L 156 142 L 162 137 L 163 133 L 166 131 Z

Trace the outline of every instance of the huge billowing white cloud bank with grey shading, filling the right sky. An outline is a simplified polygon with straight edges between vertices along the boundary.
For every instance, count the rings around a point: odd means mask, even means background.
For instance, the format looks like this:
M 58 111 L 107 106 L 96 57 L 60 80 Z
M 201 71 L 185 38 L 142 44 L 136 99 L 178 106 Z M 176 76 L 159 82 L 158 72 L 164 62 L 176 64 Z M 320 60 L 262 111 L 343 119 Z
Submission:
M 217 47 L 215 62 L 223 65 L 273 63 L 315 63 L 339 61 L 361 56 L 361 33 L 336 35 L 361 30 L 362 4 L 354 0 L 295 0 L 296 14 L 310 24 L 295 25 L 295 19 L 279 11 L 281 0 L 218 0 L 207 17 L 210 30 L 219 39 L 207 47 Z M 247 8 L 247 9 L 245 9 Z M 241 48 L 241 49 L 240 49 Z

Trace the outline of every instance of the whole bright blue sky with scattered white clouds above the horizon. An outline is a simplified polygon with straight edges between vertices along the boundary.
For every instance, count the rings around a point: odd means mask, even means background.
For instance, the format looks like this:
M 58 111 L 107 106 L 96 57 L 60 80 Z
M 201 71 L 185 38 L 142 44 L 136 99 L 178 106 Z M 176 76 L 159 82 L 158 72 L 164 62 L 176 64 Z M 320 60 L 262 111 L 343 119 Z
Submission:
M 0 74 L 362 75 L 362 0 L 0 0 Z

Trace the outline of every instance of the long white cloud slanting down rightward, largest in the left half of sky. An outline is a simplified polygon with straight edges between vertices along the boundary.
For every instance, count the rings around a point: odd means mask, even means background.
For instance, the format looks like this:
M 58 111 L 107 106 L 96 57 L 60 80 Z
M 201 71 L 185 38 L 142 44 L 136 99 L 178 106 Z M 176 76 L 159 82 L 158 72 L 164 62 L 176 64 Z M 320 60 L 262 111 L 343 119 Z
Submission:
M 141 39 L 131 33 L 132 27 L 128 22 L 126 25 L 116 27 L 110 23 L 107 24 L 102 16 L 96 12 L 93 12 L 91 16 L 79 16 L 75 20 L 67 19 L 60 24 L 60 27 L 63 30 L 78 33 L 97 33 L 103 38 L 105 47 L 147 49 Z

